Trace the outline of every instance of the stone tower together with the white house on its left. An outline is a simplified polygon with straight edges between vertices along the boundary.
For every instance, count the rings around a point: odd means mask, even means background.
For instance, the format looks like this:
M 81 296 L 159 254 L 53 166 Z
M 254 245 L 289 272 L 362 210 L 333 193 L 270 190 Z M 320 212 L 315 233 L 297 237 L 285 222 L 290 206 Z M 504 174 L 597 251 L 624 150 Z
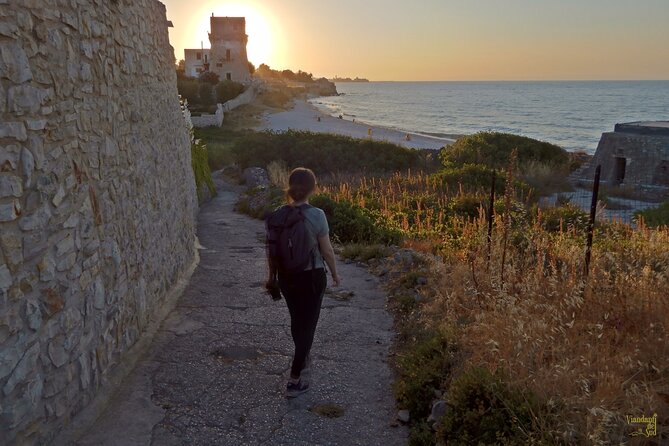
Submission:
M 251 80 L 246 55 L 246 19 L 244 17 L 214 17 L 212 14 L 209 42 L 211 49 L 184 50 L 186 74 L 199 76 L 212 71 L 221 78 L 248 83 Z

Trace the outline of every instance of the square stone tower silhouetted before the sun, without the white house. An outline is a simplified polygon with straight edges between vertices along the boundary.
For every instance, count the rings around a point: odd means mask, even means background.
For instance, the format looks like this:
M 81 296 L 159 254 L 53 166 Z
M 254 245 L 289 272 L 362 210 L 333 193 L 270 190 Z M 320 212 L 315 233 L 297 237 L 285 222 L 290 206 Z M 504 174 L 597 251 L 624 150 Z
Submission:
M 248 58 L 246 56 L 246 19 L 244 17 L 211 16 L 211 42 L 209 70 L 221 80 L 249 82 Z

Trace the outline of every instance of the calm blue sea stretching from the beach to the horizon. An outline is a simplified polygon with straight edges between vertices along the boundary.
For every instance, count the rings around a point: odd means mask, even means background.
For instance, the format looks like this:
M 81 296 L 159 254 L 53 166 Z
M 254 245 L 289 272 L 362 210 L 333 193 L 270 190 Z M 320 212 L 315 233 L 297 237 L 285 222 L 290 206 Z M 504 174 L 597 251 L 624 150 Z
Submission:
M 669 120 L 669 81 L 339 83 L 312 102 L 408 132 L 516 133 L 593 153 L 618 122 Z

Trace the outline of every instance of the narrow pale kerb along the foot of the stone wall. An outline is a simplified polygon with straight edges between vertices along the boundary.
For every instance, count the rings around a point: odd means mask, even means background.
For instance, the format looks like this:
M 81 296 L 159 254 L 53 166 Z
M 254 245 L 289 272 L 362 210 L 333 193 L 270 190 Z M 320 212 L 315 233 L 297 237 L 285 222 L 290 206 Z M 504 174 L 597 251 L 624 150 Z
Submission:
M 200 264 L 199 249 L 200 240 L 195 236 L 195 241 L 193 243 L 193 261 L 167 292 L 162 305 L 160 305 L 156 309 L 156 312 L 151 316 L 149 324 L 144 330 L 144 334 L 135 345 L 125 352 L 123 360 L 120 361 L 114 370 L 105 377 L 102 386 L 93 400 L 91 400 L 81 412 L 75 415 L 70 423 L 48 444 L 53 446 L 75 444 L 104 413 L 116 392 L 121 387 L 121 384 L 123 384 L 123 381 L 135 369 L 140 358 L 144 358 L 145 353 L 153 344 L 153 340 L 163 322 L 167 319 L 167 316 L 169 316 L 176 308 L 179 298 L 183 295 L 184 290 L 190 283 L 190 279 L 193 276 L 195 269 Z

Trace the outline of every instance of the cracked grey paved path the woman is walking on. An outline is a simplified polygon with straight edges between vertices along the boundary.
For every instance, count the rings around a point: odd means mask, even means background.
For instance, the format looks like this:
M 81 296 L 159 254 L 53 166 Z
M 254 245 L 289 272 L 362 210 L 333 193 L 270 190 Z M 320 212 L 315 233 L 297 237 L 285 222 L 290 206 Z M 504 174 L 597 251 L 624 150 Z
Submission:
M 201 262 L 184 295 L 77 444 L 406 444 L 406 429 L 391 427 L 392 319 L 378 280 L 339 265 L 343 288 L 355 294 L 326 294 L 312 389 L 286 400 L 292 341 L 285 302 L 263 293 L 263 224 L 233 212 L 237 191 L 218 186 L 200 212 Z M 327 404 L 343 414 L 314 412 Z

